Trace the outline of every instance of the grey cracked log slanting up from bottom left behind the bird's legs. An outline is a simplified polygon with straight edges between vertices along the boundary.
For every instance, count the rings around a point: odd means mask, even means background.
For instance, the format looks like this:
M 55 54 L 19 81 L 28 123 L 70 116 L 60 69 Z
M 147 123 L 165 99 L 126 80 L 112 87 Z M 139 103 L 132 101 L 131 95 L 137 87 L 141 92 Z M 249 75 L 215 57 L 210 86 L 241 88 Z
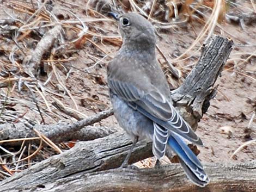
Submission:
M 81 141 L 70 150 L 5 179 L 0 183 L 0 191 L 36 187 L 79 172 L 86 174 L 118 168 L 131 145 L 130 138 L 124 132 L 93 141 Z M 151 156 L 151 142 L 141 141 L 135 147 L 129 162 L 135 163 Z

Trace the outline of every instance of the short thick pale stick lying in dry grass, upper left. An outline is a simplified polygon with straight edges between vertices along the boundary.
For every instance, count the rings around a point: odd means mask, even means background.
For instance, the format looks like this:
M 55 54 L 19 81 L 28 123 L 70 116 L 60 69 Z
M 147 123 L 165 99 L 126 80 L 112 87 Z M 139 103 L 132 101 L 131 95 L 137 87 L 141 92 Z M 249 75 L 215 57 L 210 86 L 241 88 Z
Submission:
M 58 24 L 51 30 L 49 30 L 42 39 L 39 41 L 38 45 L 30 55 L 24 58 L 22 65 L 26 66 L 26 71 L 32 77 L 38 75 L 39 65 L 41 63 L 42 55 L 49 51 L 58 36 L 62 33 L 62 26 Z

